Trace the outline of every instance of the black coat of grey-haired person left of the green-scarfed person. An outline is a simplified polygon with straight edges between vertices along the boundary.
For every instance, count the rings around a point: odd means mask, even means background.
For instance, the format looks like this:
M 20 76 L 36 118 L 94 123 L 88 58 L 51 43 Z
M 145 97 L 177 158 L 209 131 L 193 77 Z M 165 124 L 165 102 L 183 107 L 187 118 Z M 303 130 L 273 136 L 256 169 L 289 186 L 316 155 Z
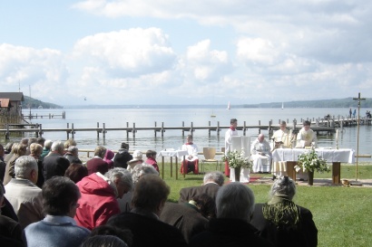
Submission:
M 192 247 L 241 247 L 241 246 L 273 246 L 259 237 L 250 223 L 239 219 L 211 219 L 208 231 L 193 237 Z

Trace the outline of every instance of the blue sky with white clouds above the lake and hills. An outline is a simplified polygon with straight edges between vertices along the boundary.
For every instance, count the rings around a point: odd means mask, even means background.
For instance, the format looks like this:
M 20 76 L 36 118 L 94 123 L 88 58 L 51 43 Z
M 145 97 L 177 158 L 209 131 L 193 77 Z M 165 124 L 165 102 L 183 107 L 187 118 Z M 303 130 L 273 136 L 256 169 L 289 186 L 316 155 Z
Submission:
M 5 0 L 0 91 L 58 105 L 372 94 L 370 0 Z

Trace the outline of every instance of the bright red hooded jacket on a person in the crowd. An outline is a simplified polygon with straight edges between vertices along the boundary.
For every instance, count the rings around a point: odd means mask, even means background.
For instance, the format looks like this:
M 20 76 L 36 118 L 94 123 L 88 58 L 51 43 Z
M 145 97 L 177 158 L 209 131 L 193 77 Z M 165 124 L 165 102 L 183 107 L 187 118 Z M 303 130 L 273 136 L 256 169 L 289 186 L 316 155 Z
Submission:
M 76 185 L 82 194 L 74 217 L 78 225 L 92 230 L 106 223 L 114 214 L 120 213 L 113 187 L 101 176 L 95 173 L 85 176 Z

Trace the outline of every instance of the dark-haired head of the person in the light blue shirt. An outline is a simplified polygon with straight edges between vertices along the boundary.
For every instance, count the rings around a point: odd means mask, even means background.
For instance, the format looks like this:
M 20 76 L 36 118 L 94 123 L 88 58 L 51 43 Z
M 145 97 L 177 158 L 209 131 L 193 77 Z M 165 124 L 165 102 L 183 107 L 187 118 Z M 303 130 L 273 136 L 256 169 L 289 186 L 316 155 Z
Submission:
M 79 206 L 79 188 L 64 176 L 54 176 L 45 181 L 43 188 L 44 213 L 58 216 L 73 216 Z

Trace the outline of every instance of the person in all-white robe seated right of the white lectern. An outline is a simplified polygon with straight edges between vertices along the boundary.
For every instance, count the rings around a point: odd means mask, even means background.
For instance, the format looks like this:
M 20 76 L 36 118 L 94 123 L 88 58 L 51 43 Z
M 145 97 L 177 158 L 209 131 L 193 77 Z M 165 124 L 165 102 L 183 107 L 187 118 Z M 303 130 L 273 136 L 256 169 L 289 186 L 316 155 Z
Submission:
M 262 164 L 270 164 L 271 151 L 270 145 L 263 134 L 259 134 L 250 147 L 251 159 L 253 160 L 253 172 L 269 172 L 269 166 L 263 167 Z

